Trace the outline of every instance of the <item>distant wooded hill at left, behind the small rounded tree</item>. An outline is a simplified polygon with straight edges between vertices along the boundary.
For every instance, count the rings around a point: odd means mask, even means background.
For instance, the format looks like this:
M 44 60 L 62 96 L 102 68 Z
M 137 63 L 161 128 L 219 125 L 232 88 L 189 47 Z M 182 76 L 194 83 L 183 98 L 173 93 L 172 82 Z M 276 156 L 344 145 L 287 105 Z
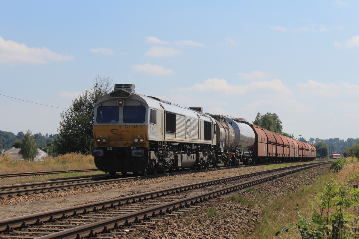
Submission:
M 17 135 L 15 135 L 12 132 L 0 130 L 0 148 L 11 148 L 11 145 L 13 145 L 16 140 L 22 139 L 23 136 L 24 132 L 18 132 Z M 43 135 L 41 132 L 34 134 L 34 139 L 36 139 L 36 143 L 39 148 L 44 148 L 46 144 L 52 142 L 54 139 L 56 139 L 56 137 L 57 134 Z

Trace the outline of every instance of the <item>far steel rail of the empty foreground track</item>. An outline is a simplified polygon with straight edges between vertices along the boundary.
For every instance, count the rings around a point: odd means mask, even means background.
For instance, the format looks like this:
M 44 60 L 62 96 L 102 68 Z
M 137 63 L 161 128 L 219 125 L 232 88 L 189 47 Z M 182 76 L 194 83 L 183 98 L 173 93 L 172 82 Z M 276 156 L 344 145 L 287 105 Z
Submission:
M 30 214 L 30 215 L 24 215 L 24 216 L 19 216 L 19 217 L 10 218 L 10 219 L 4 219 L 4 220 L 0 220 L 0 231 L 4 231 L 4 230 L 6 230 L 7 227 L 10 227 L 10 226 L 13 228 L 19 228 L 22 226 L 22 224 L 24 222 L 26 224 L 32 225 L 32 224 L 36 224 L 36 221 L 39 221 L 39 220 L 40 221 L 51 221 L 55 218 L 71 216 L 71 215 L 74 215 L 77 213 L 82 213 L 83 211 L 84 212 L 91 211 L 91 210 L 97 209 L 97 208 L 105 209 L 106 207 L 113 207 L 115 204 L 128 203 L 128 201 L 133 201 L 133 202 L 140 201 L 140 200 L 143 200 L 145 197 L 151 198 L 151 197 L 153 197 L 153 195 L 157 195 L 155 197 L 158 197 L 159 195 L 174 193 L 175 191 L 190 190 L 191 188 L 194 188 L 194 187 L 203 187 L 204 185 L 205 186 L 212 185 L 212 184 L 219 183 L 219 182 L 227 182 L 229 180 L 238 180 L 240 178 L 252 177 L 252 176 L 256 176 L 256 175 L 262 175 L 265 173 L 276 172 L 276 171 L 281 171 L 281 170 L 290 169 L 290 168 L 299 168 L 299 170 L 302 170 L 303 166 L 315 167 L 315 166 L 318 166 L 321 164 L 323 164 L 323 163 L 307 163 L 307 164 L 300 164 L 300 165 L 294 165 L 294 166 L 287 166 L 287 167 L 283 167 L 283 168 L 268 169 L 268 170 L 251 172 L 251 173 L 246 173 L 246 174 L 237 175 L 237 176 L 230 176 L 230 177 L 208 180 L 208 181 L 199 182 L 199 183 L 191 183 L 188 185 L 165 188 L 162 190 L 140 193 L 137 195 L 130 195 L 130 196 L 109 199 L 109 200 L 104 200 L 104 201 L 99 201 L 99 202 L 92 202 L 92 203 L 88 203 L 88 204 L 84 204 L 84 205 L 71 206 L 71 207 L 66 207 L 64 209 L 56 209 L 56 210 L 40 212 L 40 213 L 36 213 L 36 214 Z

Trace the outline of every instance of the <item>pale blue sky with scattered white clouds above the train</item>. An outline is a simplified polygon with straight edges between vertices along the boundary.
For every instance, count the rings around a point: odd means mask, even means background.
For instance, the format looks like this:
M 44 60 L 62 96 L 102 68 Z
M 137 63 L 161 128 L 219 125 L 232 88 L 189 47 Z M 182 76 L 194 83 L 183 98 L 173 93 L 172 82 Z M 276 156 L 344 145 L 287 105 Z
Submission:
M 0 8 L 0 130 L 56 134 L 60 114 L 100 76 L 250 123 L 276 113 L 295 138 L 359 137 L 359 1 Z

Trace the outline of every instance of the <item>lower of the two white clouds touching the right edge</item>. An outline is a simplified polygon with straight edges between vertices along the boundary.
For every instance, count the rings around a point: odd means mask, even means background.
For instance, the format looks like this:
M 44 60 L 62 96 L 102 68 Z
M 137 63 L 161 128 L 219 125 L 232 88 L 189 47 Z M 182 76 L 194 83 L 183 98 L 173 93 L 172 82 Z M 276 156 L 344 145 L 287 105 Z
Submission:
M 308 83 L 297 83 L 297 86 L 301 87 L 303 89 L 301 92 L 307 95 L 324 97 L 340 97 L 340 95 L 344 94 L 359 95 L 359 85 L 350 85 L 346 82 L 336 84 L 309 80 Z

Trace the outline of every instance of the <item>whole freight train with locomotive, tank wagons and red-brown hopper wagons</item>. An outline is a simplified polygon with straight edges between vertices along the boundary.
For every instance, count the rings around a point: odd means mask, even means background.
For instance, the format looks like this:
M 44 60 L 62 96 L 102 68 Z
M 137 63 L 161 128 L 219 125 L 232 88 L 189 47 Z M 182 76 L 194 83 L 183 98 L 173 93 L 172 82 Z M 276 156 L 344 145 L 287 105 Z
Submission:
M 121 172 L 165 173 L 243 164 L 312 161 L 316 148 L 224 115 L 204 114 L 135 93 L 133 84 L 115 84 L 94 107 L 96 167 Z

